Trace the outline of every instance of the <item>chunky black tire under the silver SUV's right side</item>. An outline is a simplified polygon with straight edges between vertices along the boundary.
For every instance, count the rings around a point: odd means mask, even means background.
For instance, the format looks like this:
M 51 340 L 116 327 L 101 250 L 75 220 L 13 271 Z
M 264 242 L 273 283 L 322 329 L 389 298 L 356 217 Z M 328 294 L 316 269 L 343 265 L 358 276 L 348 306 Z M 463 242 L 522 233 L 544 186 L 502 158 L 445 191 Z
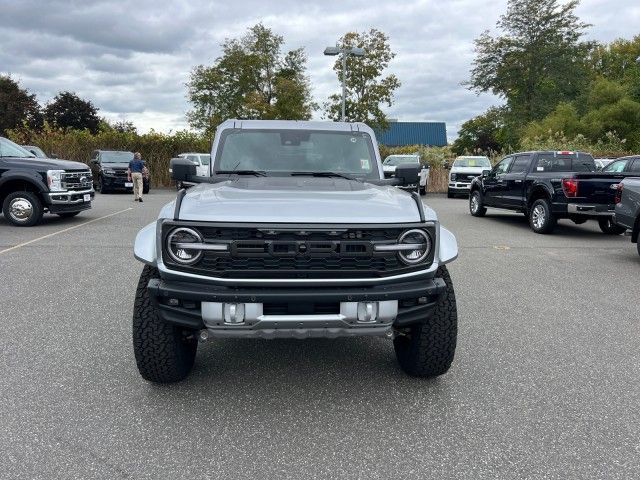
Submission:
M 414 377 L 437 377 L 451 366 L 458 336 L 458 312 L 453 283 L 447 267 L 438 268 L 446 290 L 433 316 L 425 323 L 398 329 L 393 339 L 396 358 L 402 370 Z

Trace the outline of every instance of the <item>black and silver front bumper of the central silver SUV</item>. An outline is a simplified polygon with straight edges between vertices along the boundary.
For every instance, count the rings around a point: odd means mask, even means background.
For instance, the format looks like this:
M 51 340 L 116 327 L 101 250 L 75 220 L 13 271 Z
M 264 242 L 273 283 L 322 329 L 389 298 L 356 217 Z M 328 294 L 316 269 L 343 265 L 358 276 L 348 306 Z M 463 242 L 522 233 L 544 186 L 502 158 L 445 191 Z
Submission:
M 386 335 L 429 319 L 440 278 L 370 287 L 233 288 L 153 279 L 160 317 L 213 337 L 307 338 Z

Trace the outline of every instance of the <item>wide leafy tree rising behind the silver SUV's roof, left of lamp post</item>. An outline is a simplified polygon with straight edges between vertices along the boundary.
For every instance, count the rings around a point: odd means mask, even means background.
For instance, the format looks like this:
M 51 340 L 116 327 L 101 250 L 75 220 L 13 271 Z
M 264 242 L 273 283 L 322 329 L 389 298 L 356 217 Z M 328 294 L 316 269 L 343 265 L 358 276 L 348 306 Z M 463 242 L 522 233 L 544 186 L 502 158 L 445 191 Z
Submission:
M 187 84 L 190 125 L 210 133 L 227 118 L 311 118 L 304 49 L 283 55 L 283 44 L 282 36 L 258 24 L 242 38 L 226 40 L 212 66 L 195 67 Z

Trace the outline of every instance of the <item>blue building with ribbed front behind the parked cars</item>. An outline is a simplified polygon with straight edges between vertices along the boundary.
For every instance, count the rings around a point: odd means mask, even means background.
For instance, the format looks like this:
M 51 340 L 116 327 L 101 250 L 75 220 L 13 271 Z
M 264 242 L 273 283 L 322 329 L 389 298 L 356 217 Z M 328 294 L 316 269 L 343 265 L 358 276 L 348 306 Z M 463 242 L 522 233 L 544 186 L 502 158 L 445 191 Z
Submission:
M 387 147 L 428 145 L 444 147 L 447 144 L 447 127 L 444 122 L 389 122 L 385 132 L 376 132 L 378 142 Z

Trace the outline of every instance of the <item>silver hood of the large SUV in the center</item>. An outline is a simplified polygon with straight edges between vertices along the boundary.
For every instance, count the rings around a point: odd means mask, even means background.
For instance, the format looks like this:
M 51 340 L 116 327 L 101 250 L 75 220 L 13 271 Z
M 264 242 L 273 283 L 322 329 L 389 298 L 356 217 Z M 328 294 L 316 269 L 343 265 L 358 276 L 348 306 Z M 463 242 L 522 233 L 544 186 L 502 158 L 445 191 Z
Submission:
M 173 216 L 173 204 L 161 216 Z M 425 208 L 427 219 L 435 213 Z M 181 220 L 249 223 L 411 223 L 414 199 L 395 187 L 341 178 L 240 177 L 188 190 Z

